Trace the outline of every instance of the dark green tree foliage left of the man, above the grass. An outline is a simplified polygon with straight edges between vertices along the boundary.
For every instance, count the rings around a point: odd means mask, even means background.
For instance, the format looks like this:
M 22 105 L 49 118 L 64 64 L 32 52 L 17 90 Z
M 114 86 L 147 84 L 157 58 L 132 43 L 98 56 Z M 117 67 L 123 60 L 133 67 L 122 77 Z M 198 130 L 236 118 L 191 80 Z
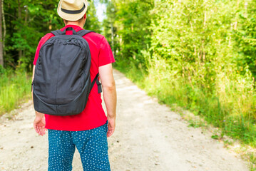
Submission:
M 61 26 L 55 1 L 4 1 L 6 39 L 5 66 L 31 71 L 40 38 Z

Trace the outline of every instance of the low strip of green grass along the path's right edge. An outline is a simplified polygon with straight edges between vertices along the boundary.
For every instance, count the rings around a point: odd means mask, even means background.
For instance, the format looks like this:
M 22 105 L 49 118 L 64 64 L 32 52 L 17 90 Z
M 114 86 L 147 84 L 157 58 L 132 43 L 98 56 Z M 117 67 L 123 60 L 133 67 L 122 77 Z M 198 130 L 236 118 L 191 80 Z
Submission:
M 144 88 L 149 95 L 156 96 L 160 103 L 165 103 L 170 107 L 178 105 L 190 110 L 208 123 L 221 128 L 225 135 L 256 147 L 255 118 L 250 113 L 234 113 L 234 106 L 222 103 L 216 95 L 200 88 L 191 88 L 190 85 L 178 81 L 170 83 L 165 79 L 153 78 L 152 75 L 146 75 L 135 66 L 122 66 L 120 63 L 118 65 L 116 69 L 125 73 L 131 81 L 140 88 Z M 233 100 L 237 101 L 237 99 Z M 240 106 L 240 111 L 242 111 L 242 106 Z

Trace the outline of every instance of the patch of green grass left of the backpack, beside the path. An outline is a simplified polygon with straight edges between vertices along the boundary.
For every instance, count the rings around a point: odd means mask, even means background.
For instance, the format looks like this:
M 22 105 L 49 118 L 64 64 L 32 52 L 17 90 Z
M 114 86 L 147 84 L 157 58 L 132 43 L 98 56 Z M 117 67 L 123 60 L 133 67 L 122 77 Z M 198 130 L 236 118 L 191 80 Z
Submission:
M 0 68 L 0 116 L 19 108 L 30 98 L 31 76 L 25 72 Z

